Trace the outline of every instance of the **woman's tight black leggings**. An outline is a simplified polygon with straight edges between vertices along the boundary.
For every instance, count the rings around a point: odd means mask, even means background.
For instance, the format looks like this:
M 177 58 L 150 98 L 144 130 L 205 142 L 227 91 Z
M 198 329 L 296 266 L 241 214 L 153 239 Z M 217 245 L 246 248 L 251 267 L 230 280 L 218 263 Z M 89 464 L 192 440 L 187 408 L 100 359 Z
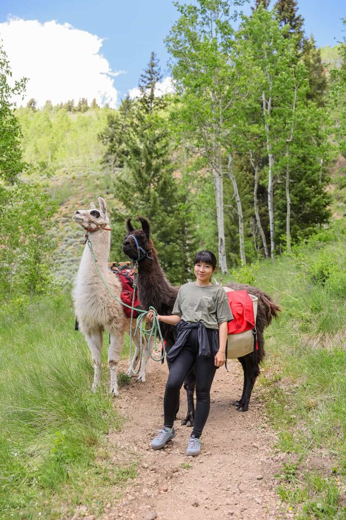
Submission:
M 211 336 L 208 331 L 208 336 Z M 211 340 L 211 338 L 210 338 Z M 196 363 L 196 412 L 192 434 L 200 437 L 210 410 L 210 389 L 216 372 L 214 356 L 200 357 L 198 354 L 198 329 L 191 329 L 182 351 L 171 364 L 164 393 L 164 425 L 173 427 L 175 412 L 179 405 L 179 393 L 184 380 Z

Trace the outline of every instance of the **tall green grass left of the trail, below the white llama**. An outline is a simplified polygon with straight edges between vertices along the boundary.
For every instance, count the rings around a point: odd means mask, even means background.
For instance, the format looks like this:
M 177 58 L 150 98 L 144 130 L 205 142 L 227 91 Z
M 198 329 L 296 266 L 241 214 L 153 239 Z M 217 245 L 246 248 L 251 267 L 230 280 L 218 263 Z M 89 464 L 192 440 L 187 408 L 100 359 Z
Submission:
M 102 385 L 92 393 L 91 356 L 74 331 L 70 298 L 16 305 L 1 309 L 0 518 L 58 518 L 62 504 L 72 512 L 80 503 L 101 513 L 110 487 L 136 474 L 135 463 L 109 459 L 106 434 L 122 419 L 107 394 L 107 348 Z

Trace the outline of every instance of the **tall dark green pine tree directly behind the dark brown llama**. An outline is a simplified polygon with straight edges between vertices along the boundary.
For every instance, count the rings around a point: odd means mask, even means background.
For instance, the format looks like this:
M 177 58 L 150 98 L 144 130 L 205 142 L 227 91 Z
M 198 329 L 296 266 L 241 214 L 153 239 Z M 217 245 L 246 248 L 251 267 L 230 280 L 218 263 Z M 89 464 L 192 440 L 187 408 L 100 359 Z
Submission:
M 170 127 L 161 113 L 167 101 L 155 97 L 160 78 L 158 61 L 151 54 L 140 79 L 141 98 L 124 99 L 119 111 L 109 114 L 100 139 L 107 147 L 104 162 L 123 167 L 114 176 L 120 203 L 113 217 L 113 227 L 118 230 L 114 235 L 121 240 L 126 216 L 148 218 L 162 268 L 172 282 L 182 283 L 189 267 L 187 252 L 192 247 L 188 191 L 174 174 Z M 113 247 L 120 249 L 121 244 L 114 241 Z

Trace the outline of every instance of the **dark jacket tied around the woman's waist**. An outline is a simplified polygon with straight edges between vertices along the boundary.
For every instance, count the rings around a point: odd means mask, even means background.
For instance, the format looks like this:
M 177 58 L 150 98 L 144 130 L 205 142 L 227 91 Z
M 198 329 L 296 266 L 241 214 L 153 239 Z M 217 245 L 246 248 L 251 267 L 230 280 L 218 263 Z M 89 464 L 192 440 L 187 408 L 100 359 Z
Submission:
M 175 326 L 175 332 L 177 334 L 175 343 L 167 354 L 167 361 L 169 363 L 172 363 L 181 352 L 191 329 L 198 329 L 199 355 L 201 357 L 210 357 L 212 354 L 216 356 L 219 349 L 218 331 L 206 329 L 200 321 L 198 323 L 187 323 L 184 320 L 180 320 Z

